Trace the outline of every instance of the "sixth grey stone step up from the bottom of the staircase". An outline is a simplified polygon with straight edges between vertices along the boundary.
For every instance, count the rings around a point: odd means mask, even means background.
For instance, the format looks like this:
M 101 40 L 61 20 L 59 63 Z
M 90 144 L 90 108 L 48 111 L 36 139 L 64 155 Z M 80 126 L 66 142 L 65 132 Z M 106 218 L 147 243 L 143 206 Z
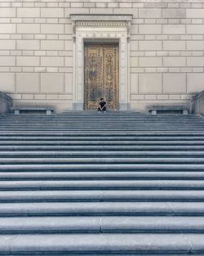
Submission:
M 196 170 L 168 172 L 168 171 L 153 171 L 153 172 L 140 172 L 135 171 L 85 171 L 85 172 L 10 172 L 0 173 L 0 180 L 204 180 L 204 171 L 197 172 Z

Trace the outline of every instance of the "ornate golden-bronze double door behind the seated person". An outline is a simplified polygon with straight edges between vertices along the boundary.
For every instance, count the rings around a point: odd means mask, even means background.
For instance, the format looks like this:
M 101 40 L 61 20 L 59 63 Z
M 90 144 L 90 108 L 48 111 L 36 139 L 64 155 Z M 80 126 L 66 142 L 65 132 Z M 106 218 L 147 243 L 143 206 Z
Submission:
M 118 44 L 85 44 L 84 107 L 96 110 L 103 97 L 109 110 L 118 110 Z

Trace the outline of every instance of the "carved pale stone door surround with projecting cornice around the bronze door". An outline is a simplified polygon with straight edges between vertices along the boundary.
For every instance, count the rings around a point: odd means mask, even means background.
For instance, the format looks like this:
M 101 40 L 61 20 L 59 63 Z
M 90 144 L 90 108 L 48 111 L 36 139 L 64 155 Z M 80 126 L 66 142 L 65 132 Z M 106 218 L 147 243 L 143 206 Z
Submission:
M 84 43 L 109 41 L 119 44 L 119 110 L 130 109 L 131 15 L 72 15 L 73 20 L 73 110 L 84 108 Z

